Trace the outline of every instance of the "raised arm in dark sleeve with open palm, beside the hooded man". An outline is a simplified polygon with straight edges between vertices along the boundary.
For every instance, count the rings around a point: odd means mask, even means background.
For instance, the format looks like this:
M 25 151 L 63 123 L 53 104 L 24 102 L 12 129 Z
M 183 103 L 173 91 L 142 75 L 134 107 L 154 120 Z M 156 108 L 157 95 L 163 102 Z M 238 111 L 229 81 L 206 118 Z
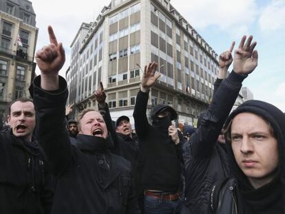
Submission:
M 240 46 L 235 51 L 233 72 L 221 83 L 213 102 L 202 117 L 200 127 L 191 136 L 191 145 L 188 144 L 188 148 L 191 147 L 191 153 L 194 157 L 203 158 L 211 153 L 220 130 L 240 92 L 242 81 L 257 66 L 258 54 L 254 50 L 256 42 L 251 43 L 252 39 L 253 37 L 249 36 L 246 41 L 246 36 L 242 37 Z

